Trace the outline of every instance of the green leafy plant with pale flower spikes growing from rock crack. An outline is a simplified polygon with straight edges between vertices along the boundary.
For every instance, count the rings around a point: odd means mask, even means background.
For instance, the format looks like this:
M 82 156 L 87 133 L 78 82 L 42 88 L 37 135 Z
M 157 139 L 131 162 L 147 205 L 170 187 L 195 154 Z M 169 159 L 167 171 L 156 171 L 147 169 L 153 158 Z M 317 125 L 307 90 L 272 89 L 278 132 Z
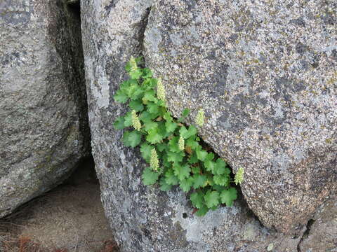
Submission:
M 220 204 L 232 206 L 237 190 L 231 182 L 241 183 L 243 169 L 234 181 L 224 160 L 213 153 L 197 136 L 194 125 L 184 125 L 190 111 L 185 109 L 175 119 L 166 108 L 166 92 L 161 79 L 152 71 L 140 68 L 140 58 L 131 57 L 126 64 L 130 78 L 121 83 L 114 94 L 116 102 L 128 103 L 130 111 L 117 118 L 114 127 L 124 131 L 125 146 L 140 146 L 140 153 L 149 167 L 143 171 L 147 186 L 159 182 L 161 190 L 179 186 L 189 193 L 197 215 L 203 216 Z M 204 125 L 204 110 L 197 112 L 196 123 Z

